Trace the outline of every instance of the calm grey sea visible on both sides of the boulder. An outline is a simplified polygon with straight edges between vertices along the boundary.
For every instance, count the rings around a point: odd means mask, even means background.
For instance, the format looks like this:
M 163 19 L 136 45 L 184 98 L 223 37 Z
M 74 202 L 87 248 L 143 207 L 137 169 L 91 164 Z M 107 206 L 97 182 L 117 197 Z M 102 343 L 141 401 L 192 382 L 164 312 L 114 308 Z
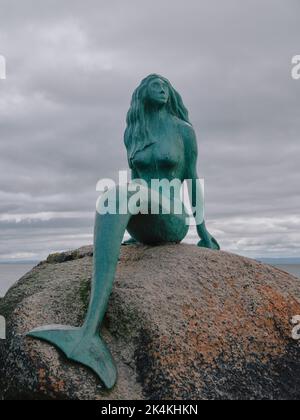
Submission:
M 0 264 L 0 297 L 4 296 L 7 290 L 18 281 L 24 274 L 28 273 L 36 264 Z M 287 271 L 300 278 L 300 265 L 297 264 L 273 264 L 281 270 Z

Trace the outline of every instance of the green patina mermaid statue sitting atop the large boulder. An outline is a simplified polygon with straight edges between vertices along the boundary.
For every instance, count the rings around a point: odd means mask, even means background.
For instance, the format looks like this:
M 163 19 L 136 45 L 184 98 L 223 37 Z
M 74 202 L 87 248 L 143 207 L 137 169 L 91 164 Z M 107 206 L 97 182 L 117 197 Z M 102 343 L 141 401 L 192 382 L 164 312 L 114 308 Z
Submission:
M 204 222 L 195 132 L 180 95 L 165 78 L 150 75 L 134 92 L 127 116 L 125 145 L 132 179 L 146 182 L 149 191 L 153 179 L 191 180 L 189 193 L 200 237 L 198 245 L 220 249 Z M 123 188 L 119 186 L 118 191 Z M 129 201 L 131 195 L 126 189 L 125 200 Z M 118 194 L 120 196 L 124 197 L 124 194 Z M 153 196 L 156 198 L 151 195 L 151 199 L 157 200 L 162 209 L 161 194 Z M 180 197 L 173 193 L 168 199 L 175 203 Z M 142 214 L 138 208 L 121 214 L 120 206 L 118 201 L 115 214 L 96 213 L 92 295 L 84 325 L 81 328 L 47 326 L 28 333 L 31 337 L 55 345 L 70 360 L 91 368 L 108 389 L 116 383 L 117 369 L 100 337 L 100 327 L 107 310 L 126 229 L 131 235 L 127 243 L 148 245 L 179 243 L 188 233 L 187 213 L 183 204 L 181 212 L 171 211 L 169 214 L 162 211 L 159 214 Z

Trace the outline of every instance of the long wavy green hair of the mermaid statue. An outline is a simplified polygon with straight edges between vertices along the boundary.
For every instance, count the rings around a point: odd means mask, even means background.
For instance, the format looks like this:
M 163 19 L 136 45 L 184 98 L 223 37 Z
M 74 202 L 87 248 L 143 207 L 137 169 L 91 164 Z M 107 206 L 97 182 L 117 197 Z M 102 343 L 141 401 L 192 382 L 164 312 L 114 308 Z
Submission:
M 171 83 L 157 74 L 151 74 L 146 77 L 134 91 L 131 106 L 127 114 L 127 128 L 124 141 L 130 167 L 132 167 L 132 161 L 136 153 L 144 150 L 151 144 L 148 135 L 147 96 L 149 83 L 157 78 L 162 79 L 169 88 L 169 101 L 166 105 L 169 113 L 190 124 L 188 110 L 184 106 L 181 96 L 173 88 Z

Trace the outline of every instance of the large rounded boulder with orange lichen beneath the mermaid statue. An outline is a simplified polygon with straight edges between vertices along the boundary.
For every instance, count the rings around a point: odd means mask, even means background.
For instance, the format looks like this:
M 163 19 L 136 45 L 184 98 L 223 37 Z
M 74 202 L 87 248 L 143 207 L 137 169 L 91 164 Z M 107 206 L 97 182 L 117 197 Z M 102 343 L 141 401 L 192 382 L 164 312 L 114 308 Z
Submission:
M 300 399 L 300 281 L 276 268 L 190 245 L 122 247 L 102 335 L 119 380 L 104 391 L 84 367 L 24 337 L 82 324 L 92 249 L 53 255 L 0 301 L 4 399 Z

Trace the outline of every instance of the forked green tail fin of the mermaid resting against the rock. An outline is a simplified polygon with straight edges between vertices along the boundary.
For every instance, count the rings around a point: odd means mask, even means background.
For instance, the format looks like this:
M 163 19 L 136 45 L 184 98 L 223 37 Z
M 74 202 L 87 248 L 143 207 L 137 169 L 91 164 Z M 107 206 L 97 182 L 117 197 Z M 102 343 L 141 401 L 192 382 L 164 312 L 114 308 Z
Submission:
M 92 369 L 107 389 L 117 381 L 117 369 L 110 351 L 99 335 L 88 335 L 83 328 L 53 325 L 30 331 L 28 336 L 53 344 L 68 359 Z

